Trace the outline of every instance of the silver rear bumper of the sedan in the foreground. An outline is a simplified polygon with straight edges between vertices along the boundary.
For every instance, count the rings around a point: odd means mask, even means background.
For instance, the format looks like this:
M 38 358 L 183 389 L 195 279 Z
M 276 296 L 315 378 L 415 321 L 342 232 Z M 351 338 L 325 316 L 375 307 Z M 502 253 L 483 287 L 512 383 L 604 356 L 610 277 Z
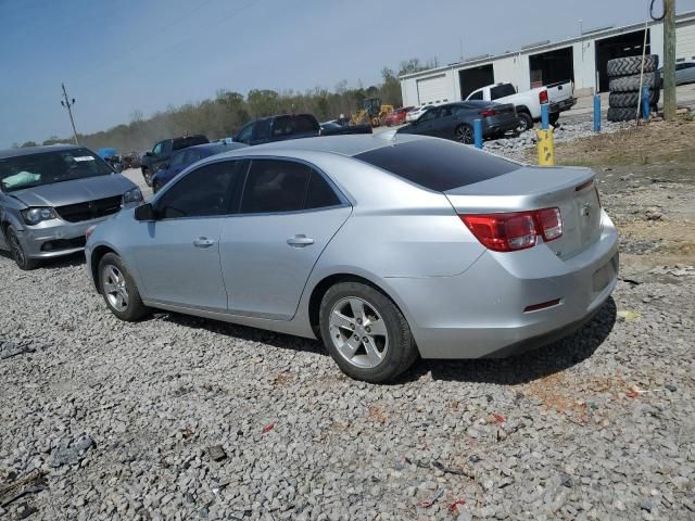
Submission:
M 389 284 L 424 358 L 481 358 L 571 333 L 606 302 L 617 278 L 618 233 L 604 213 L 601 238 L 573 258 L 563 260 L 543 243 L 514 253 L 486 251 L 459 276 Z M 556 305 L 525 312 L 557 298 Z

